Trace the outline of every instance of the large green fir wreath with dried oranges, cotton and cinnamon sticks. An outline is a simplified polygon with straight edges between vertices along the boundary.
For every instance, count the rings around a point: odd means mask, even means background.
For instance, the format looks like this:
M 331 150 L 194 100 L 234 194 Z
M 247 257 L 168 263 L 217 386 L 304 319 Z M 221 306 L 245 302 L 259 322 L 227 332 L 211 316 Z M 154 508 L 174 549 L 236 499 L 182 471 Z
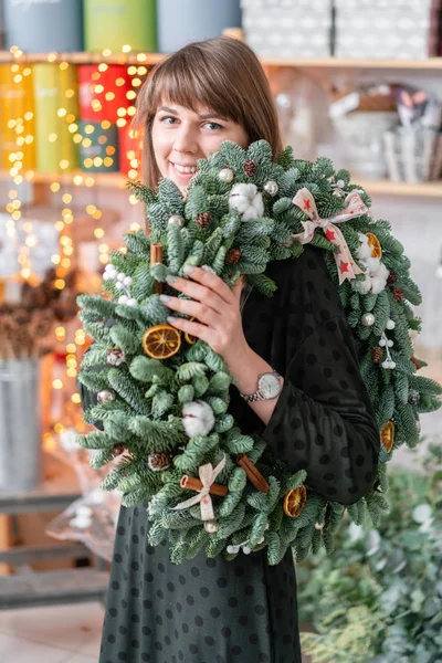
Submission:
M 150 234 L 126 234 L 106 265 L 104 295 L 78 298 L 94 340 L 78 380 L 98 400 L 85 420 L 103 428 L 78 443 L 96 450 L 92 466 L 109 463 L 102 487 L 122 491 L 126 506 L 147 501 L 149 543 L 167 538 L 175 564 L 202 549 L 230 560 L 266 548 L 270 565 L 290 546 L 296 559 L 320 546 L 332 552 L 346 508 L 355 523 L 368 512 L 377 526 L 389 511 L 386 464 L 393 449 L 418 444 L 419 414 L 439 408 L 442 391 L 415 375 L 425 364 L 409 332 L 420 330 L 411 305 L 421 295 L 390 224 L 371 218 L 368 194 L 347 170 L 336 172 L 327 158 L 295 159 L 291 148 L 273 161 L 265 140 L 248 150 L 227 140 L 199 160 L 186 201 L 167 179 L 158 191 L 131 189 L 147 206 Z M 230 286 L 243 274 L 272 296 L 269 261 L 296 259 L 305 243 L 324 252 L 380 431 L 372 490 L 347 507 L 315 493 L 305 470 L 288 472 L 257 434 L 242 434 L 229 413 L 235 380 L 222 357 L 168 325 L 159 299 L 169 274 L 187 277 L 186 264 Z

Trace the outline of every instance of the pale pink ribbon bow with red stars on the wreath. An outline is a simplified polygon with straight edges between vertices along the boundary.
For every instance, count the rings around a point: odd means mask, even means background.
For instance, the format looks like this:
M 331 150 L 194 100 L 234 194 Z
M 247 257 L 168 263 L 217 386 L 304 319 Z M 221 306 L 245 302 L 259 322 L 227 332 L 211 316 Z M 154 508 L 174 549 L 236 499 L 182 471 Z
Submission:
M 299 241 L 302 244 L 307 244 L 313 240 L 315 230 L 317 228 L 324 229 L 324 234 L 334 244 L 339 246 L 338 251 L 334 254 L 336 264 L 338 267 L 339 285 L 348 278 L 356 278 L 357 274 L 364 274 L 364 271 L 352 260 L 348 244 L 343 235 L 340 229 L 334 223 L 343 223 L 349 219 L 356 219 L 367 214 L 369 211 L 368 207 L 364 203 L 361 197 L 356 191 L 351 191 L 345 199 L 346 209 L 339 214 L 329 217 L 328 219 L 320 219 L 315 199 L 308 189 L 299 189 L 294 199 L 293 204 L 296 204 L 311 218 L 311 221 L 301 221 L 304 228 L 304 232 L 299 232 L 293 235 L 294 240 Z

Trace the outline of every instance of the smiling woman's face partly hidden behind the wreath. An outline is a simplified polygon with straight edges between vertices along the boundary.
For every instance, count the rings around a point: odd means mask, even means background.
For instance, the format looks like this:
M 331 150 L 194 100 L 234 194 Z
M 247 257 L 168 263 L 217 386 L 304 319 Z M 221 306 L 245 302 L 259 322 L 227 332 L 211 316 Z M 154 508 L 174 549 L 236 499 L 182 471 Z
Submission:
M 197 170 L 198 159 L 217 151 L 223 140 L 248 147 L 245 129 L 199 105 L 197 112 L 164 102 L 154 118 L 151 139 L 161 176 L 171 179 L 181 191 Z

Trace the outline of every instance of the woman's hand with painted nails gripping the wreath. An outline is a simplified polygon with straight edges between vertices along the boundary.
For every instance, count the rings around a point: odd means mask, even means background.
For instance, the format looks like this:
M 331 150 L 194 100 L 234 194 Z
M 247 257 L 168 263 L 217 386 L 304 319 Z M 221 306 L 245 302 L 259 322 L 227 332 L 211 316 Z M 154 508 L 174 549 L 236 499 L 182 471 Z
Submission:
M 240 295 L 242 278 L 230 288 L 219 276 L 201 267 L 186 265 L 186 274 L 192 278 L 168 276 L 167 283 L 192 297 L 183 299 L 160 295 L 165 306 L 179 311 L 199 322 L 170 316 L 170 325 L 204 340 L 224 360 L 241 355 L 249 348 L 242 329 Z

